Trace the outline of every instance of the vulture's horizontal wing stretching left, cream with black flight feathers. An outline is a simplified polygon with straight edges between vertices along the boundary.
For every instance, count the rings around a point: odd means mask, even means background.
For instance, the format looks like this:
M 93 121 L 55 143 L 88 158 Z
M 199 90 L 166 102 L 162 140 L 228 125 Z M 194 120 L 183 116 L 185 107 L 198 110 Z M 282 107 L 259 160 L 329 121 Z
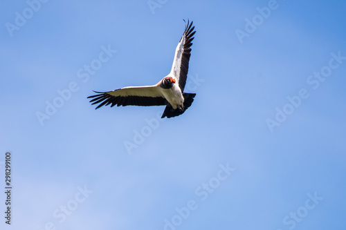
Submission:
M 96 92 L 97 95 L 90 96 L 90 102 L 101 106 L 164 106 L 167 104 L 165 97 L 157 86 L 129 86 L 109 92 Z M 95 108 L 95 109 L 96 109 Z

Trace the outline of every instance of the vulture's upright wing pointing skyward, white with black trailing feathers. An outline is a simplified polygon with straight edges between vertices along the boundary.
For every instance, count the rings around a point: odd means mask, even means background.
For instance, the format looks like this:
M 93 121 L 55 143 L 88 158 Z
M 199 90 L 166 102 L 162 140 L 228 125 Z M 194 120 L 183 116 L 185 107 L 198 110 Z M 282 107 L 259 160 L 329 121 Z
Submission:
M 191 41 L 194 39 L 193 21 L 185 26 L 183 37 L 181 37 L 178 46 L 176 46 L 172 70 L 169 76 L 174 77 L 179 82 L 181 92 L 183 92 L 188 77 L 189 61 L 191 56 Z

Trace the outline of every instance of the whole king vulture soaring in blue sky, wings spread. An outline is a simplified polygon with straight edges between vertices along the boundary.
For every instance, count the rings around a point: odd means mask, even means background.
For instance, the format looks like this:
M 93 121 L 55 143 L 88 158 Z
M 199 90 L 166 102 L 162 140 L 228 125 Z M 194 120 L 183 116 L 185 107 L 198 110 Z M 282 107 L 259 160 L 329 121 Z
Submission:
M 185 20 L 184 20 L 185 21 Z M 111 105 L 117 106 L 166 106 L 163 117 L 176 117 L 185 112 L 194 101 L 195 93 L 183 93 L 188 77 L 189 61 L 191 56 L 191 41 L 194 39 L 194 26 L 186 24 L 174 55 L 172 70 L 152 86 L 128 86 L 108 92 L 97 92 L 90 96 L 95 108 Z

